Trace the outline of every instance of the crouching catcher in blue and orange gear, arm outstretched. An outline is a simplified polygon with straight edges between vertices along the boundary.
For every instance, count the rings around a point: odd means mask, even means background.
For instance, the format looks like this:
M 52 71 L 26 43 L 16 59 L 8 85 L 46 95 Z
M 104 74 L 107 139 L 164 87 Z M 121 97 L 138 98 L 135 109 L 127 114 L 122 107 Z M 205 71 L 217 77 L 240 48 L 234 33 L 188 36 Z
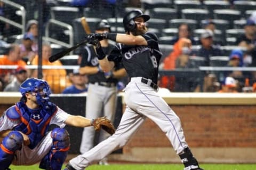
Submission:
M 20 86 L 21 100 L 0 117 L 0 170 L 13 165 L 39 164 L 39 168 L 60 170 L 69 150 L 66 124 L 94 126 L 91 119 L 73 116 L 49 102 L 50 86 L 29 78 Z M 58 128 L 49 130 L 51 124 Z

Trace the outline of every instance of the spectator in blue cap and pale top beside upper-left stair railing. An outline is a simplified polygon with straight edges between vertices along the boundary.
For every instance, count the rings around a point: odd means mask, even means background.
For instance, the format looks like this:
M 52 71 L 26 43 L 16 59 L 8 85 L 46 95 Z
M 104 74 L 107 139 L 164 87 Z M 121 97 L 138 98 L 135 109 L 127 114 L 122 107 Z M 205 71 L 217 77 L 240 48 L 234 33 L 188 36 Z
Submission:
M 33 42 L 34 36 L 31 33 L 26 33 L 23 36 L 22 44 L 20 45 L 20 58 L 30 64 L 37 54 L 36 49 L 34 49 Z

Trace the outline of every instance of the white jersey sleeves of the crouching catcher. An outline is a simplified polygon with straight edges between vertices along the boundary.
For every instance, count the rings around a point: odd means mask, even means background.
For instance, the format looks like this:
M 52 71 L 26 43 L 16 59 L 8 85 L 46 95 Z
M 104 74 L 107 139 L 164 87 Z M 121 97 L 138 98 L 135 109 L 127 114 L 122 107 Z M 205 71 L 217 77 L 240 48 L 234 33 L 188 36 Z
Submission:
M 56 114 L 51 118 L 50 125 L 55 124 L 59 127 L 63 128 L 66 126 L 65 121 L 68 118 L 69 114 L 59 107 L 57 107 Z M 8 109 L 7 109 L 8 110 Z M 3 115 L 0 117 L 0 132 L 4 130 L 11 130 L 15 126 L 19 125 L 21 120 L 12 120 L 6 116 L 6 111 L 4 111 Z

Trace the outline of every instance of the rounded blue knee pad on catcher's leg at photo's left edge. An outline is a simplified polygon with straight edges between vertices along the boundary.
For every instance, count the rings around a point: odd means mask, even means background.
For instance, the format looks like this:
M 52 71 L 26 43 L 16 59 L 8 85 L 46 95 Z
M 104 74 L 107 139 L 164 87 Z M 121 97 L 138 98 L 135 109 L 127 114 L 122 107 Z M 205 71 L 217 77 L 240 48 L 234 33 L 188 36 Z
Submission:
M 9 154 L 12 154 L 16 150 L 21 149 L 23 143 L 23 136 L 18 131 L 12 131 L 4 137 L 1 149 Z

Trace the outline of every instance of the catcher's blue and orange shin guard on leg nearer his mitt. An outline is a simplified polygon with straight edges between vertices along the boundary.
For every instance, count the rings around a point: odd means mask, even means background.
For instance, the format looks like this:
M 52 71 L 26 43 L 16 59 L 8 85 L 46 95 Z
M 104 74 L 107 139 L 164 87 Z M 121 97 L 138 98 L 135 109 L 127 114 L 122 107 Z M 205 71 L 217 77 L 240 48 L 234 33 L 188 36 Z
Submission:
M 70 147 L 69 134 L 66 129 L 54 128 L 52 133 L 52 147 L 49 153 L 41 160 L 39 168 L 60 170 Z

